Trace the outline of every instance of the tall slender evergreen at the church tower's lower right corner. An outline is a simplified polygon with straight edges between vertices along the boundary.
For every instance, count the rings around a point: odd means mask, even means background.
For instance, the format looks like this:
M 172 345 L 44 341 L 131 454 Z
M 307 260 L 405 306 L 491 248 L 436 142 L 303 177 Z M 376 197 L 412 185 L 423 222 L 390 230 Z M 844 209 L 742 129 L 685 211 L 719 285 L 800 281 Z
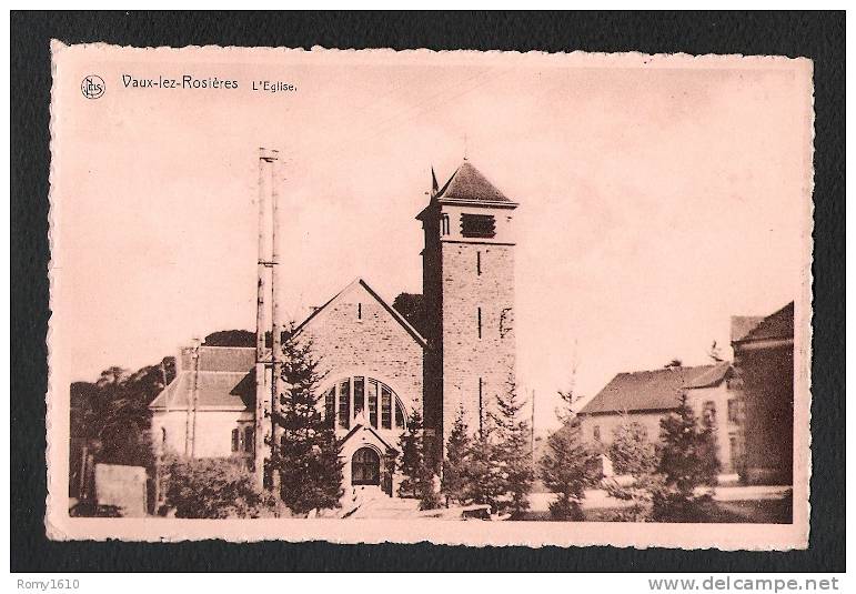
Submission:
M 512 517 L 528 510 L 528 493 L 534 480 L 532 431 L 523 415 L 524 405 L 514 377 L 510 376 L 505 392 L 496 397 L 496 410 L 489 413 L 495 427 L 493 457 L 500 470 L 504 495 L 499 511 L 510 512 Z

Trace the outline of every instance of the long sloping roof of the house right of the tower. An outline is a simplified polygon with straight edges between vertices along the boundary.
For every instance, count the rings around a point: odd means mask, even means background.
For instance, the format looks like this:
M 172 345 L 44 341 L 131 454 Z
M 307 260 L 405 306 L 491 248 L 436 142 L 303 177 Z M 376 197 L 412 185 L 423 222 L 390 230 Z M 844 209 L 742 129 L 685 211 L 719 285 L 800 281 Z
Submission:
M 620 373 L 577 414 L 663 411 L 674 409 L 685 390 L 709 387 L 728 374 L 728 362 L 695 368 L 664 368 Z

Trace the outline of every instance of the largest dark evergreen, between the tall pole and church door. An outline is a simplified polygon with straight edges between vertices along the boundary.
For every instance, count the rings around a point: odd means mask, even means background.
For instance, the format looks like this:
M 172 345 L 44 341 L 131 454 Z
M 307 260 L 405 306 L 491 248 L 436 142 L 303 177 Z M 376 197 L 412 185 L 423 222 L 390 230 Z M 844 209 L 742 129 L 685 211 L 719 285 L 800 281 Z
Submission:
M 343 463 L 334 426 L 321 412 L 319 361 L 311 342 L 289 339 L 282 351 L 285 390 L 273 417 L 280 442 L 271 461 L 282 501 L 295 514 L 339 507 Z

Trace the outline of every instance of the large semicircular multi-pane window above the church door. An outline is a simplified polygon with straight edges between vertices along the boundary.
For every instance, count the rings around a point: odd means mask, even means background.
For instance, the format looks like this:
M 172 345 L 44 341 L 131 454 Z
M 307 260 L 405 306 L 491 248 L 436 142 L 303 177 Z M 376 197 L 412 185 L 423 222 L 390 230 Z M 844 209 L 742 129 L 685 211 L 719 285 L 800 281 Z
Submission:
M 324 392 L 324 416 L 329 423 L 351 429 L 360 415 L 375 429 L 404 429 L 406 422 L 399 396 L 374 377 L 344 377 Z

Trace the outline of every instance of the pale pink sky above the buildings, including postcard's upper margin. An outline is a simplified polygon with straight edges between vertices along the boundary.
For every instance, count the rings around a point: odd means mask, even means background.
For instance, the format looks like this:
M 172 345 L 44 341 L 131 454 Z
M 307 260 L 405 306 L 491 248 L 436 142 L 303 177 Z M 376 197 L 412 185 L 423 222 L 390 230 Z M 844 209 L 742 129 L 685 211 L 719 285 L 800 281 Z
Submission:
M 54 60 L 51 358 L 71 380 L 253 329 L 259 147 L 283 159 L 280 303 L 298 321 L 356 276 L 390 302 L 421 292 L 432 167 L 442 184 L 466 155 L 520 203 L 517 374 L 536 427 L 572 383 L 591 397 L 620 372 L 704 364 L 714 340 L 731 356 L 731 315 L 807 286 L 805 61 L 103 46 Z M 97 100 L 80 92 L 92 73 Z M 262 80 L 296 90 L 252 91 Z

